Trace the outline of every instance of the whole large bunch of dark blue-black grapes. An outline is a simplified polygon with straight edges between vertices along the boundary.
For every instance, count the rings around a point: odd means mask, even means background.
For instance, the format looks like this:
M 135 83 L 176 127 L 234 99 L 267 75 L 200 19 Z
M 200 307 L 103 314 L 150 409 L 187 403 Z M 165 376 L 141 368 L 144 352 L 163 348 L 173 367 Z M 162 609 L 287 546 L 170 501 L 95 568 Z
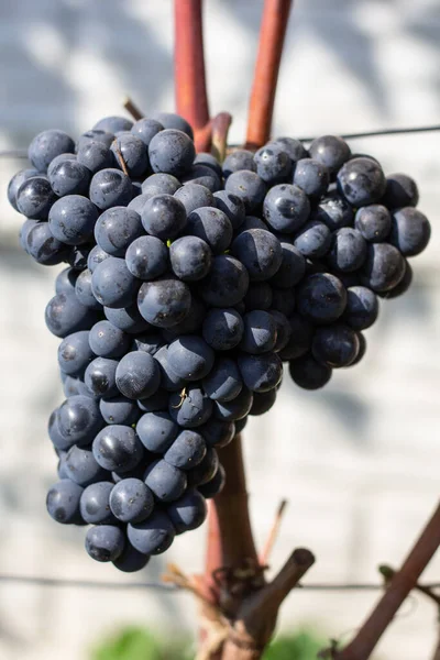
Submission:
M 66 396 L 47 509 L 136 571 L 204 522 L 217 450 L 274 405 L 283 362 L 317 389 L 362 359 L 430 226 L 410 177 L 331 135 L 221 164 L 176 114 L 110 117 L 40 133 L 29 160 L 8 190 L 21 245 L 68 264 L 45 311 Z

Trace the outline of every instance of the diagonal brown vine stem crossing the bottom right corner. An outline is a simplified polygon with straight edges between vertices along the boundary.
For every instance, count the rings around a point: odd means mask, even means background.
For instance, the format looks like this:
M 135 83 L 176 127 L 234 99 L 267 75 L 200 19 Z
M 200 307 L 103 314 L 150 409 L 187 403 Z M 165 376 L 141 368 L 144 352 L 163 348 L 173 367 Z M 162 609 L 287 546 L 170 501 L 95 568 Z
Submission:
M 366 660 L 440 546 L 440 504 L 354 639 L 334 660 Z

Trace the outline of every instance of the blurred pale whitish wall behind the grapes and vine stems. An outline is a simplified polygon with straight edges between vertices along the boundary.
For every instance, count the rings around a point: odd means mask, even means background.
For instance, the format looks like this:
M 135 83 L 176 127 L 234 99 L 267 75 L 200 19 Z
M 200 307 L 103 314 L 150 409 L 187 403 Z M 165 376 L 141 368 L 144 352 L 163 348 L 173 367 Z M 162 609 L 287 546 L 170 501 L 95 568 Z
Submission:
M 261 0 L 206 1 L 211 110 L 232 112 L 233 143 L 244 138 L 261 9 Z M 125 94 L 146 113 L 174 109 L 170 0 L 0 0 L 0 148 L 26 146 L 46 128 L 78 135 L 120 113 Z M 439 48 L 438 0 L 297 0 L 274 132 L 438 123 Z M 318 561 L 309 582 L 377 581 L 376 565 L 399 563 L 439 494 L 440 134 L 360 140 L 352 148 L 418 180 L 433 237 L 414 262 L 409 293 L 383 305 L 363 362 L 315 394 L 286 378 L 275 410 L 246 428 L 256 538 L 264 540 L 279 499 L 288 498 L 273 563 L 297 544 L 310 547 Z M 0 572 L 130 580 L 95 564 L 82 549 L 84 531 L 54 524 L 45 512 L 56 463 L 46 418 L 62 400 L 58 341 L 43 318 L 55 270 L 19 250 L 21 219 L 8 207 L 6 187 L 21 166 L 0 160 Z M 167 560 L 198 571 L 205 532 L 179 538 Z M 156 580 L 163 570 L 157 558 L 141 579 Z M 439 557 L 426 578 L 440 579 Z M 311 623 L 343 636 L 375 598 L 296 591 L 280 625 Z M 0 658 L 87 660 L 94 641 L 125 623 L 172 635 L 193 629 L 194 616 L 186 595 L 0 582 Z M 417 597 L 376 657 L 428 658 L 435 625 L 435 609 Z

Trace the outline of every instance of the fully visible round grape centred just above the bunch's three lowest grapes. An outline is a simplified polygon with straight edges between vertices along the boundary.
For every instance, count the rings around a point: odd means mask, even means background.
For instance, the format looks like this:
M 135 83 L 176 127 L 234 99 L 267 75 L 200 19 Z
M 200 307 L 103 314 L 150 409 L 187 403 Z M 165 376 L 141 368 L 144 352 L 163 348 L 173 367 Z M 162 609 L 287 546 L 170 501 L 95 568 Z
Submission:
M 110 508 L 121 522 L 142 522 L 153 513 L 153 493 L 140 479 L 123 479 L 110 493 Z

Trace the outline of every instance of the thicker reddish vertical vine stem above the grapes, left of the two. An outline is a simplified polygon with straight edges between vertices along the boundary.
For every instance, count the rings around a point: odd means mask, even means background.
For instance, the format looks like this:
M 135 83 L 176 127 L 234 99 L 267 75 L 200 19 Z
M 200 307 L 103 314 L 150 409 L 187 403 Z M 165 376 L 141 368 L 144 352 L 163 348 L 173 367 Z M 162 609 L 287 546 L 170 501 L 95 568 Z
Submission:
M 174 0 L 174 80 L 177 112 L 195 131 L 197 151 L 210 146 L 202 0 Z

